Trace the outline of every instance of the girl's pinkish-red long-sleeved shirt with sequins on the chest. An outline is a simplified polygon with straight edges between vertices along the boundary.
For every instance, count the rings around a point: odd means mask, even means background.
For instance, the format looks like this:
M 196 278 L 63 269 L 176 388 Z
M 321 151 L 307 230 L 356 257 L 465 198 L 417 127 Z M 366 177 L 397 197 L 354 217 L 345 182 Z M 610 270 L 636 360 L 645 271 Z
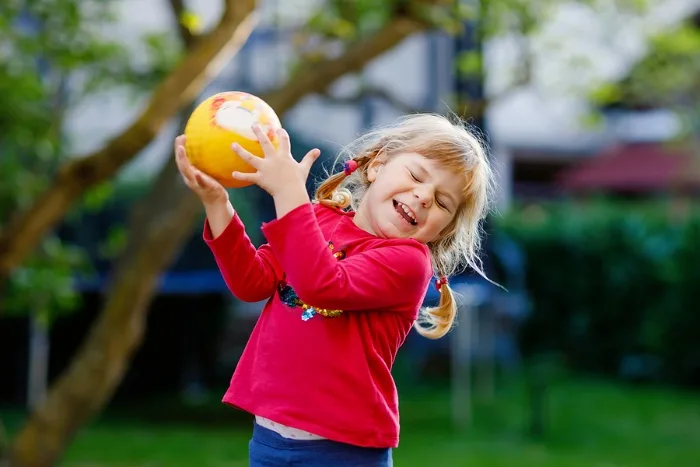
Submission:
M 430 282 L 430 255 L 415 240 L 365 232 L 353 215 L 307 203 L 264 224 L 268 243 L 258 249 L 237 215 L 216 239 L 205 222 L 231 292 L 269 299 L 223 401 L 335 441 L 396 447 L 391 367 Z M 310 307 L 343 313 L 302 319 L 281 299 L 284 285 Z

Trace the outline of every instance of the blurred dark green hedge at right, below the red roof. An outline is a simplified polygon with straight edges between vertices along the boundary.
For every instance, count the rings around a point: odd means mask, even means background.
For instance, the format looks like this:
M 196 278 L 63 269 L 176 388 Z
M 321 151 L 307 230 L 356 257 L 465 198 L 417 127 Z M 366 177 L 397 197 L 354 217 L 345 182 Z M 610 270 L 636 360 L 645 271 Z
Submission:
M 700 214 L 560 204 L 497 221 L 528 257 L 527 355 L 586 371 L 700 385 Z

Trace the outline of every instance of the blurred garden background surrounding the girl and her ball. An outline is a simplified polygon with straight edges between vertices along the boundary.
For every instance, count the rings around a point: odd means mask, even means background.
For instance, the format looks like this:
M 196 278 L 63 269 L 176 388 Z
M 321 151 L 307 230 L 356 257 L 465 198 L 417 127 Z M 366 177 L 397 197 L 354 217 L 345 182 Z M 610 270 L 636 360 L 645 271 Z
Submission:
M 407 113 L 490 147 L 506 291 L 465 271 L 459 325 L 409 336 L 396 465 L 700 465 L 700 1 L 9 1 L 0 31 L 0 465 L 247 465 L 220 400 L 262 303 L 172 157 L 224 90 L 321 148 L 310 189 Z M 269 198 L 231 198 L 260 244 Z

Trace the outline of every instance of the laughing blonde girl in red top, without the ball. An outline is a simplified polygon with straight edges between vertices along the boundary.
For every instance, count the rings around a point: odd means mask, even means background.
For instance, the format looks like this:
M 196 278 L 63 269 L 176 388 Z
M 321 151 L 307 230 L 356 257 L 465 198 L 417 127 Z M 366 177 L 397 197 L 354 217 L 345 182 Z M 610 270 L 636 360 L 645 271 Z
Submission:
M 231 292 L 267 299 L 223 402 L 255 416 L 251 466 L 389 466 L 399 442 L 391 368 L 413 326 L 445 335 L 456 314 L 447 277 L 478 258 L 493 183 L 477 138 L 437 115 L 413 115 L 371 132 L 348 151 L 312 202 L 301 162 L 280 131 L 257 171 L 234 173 L 274 200 L 256 249 L 226 190 L 189 164 L 176 139 L 185 183 L 206 211 L 204 241 Z M 440 302 L 420 310 L 431 277 Z

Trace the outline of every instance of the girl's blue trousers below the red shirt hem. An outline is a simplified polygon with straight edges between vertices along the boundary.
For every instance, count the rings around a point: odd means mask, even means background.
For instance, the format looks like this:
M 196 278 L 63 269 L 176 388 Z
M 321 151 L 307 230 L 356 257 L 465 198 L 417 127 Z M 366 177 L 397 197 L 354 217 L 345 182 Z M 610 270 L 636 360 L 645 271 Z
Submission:
M 287 439 L 253 425 L 250 467 L 392 467 L 391 449 L 363 448 L 330 440 Z

